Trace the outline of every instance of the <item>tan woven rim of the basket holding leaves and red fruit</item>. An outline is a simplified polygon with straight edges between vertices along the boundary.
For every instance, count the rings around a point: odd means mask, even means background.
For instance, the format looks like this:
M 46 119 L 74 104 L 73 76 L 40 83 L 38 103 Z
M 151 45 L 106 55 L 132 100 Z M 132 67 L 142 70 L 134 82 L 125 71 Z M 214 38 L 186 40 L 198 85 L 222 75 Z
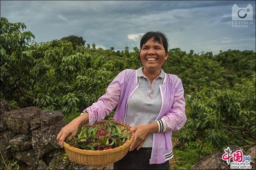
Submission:
M 96 123 L 102 123 L 104 121 L 108 121 L 108 120 L 102 120 L 102 121 L 99 121 L 99 122 L 96 122 Z M 115 121 L 115 122 L 118 123 L 118 124 L 124 125 L 124 126 L 126 126 L 128 128 L 131 128 L 128 124 L 123 123 L 121 121 Z M 72 146 L 68 145 L 65 141 L 63 141 L 63 146 L 64 146 L 64 149 L 68 149 L 68 150 L 70 150 L 72 152 L 76 152 L 76 153 L 79 153 L 79 154 L 84 154 L 84 155 L 105 155 L 105 154 L 112 154 L 112 153 L 120 152 L 120 151 L 126 149 L 127 147 L 130 146 L 130 144 L 132 143 L 133 139 L 134 139 L 134 132 L 132 132 L 132 136 L 131 136 L 130 140 L 126 144 L 124 144 L 122 146 L 119 146 L 119 147 L 116 147 L 116 148 L 113 148 L 113 149 L 106 149 L 106 150 L 78 149 L 76 147 L 72 147 Z

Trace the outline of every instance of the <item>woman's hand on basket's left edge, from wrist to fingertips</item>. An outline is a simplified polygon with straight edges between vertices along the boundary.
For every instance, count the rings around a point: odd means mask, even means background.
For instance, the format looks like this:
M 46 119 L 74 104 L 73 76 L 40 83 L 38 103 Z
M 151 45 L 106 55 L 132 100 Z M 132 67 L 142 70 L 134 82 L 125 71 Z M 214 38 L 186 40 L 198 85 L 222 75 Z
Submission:
M 71 141 L 76 133 L 78 132 L 78 127 L 80 123 L 73 120 L 68 125 L 62 127 L 60 133 L 57 135 L 57 141 L 61 148 L 63 148 L 63 141 L 66 139 L 66 142 Z

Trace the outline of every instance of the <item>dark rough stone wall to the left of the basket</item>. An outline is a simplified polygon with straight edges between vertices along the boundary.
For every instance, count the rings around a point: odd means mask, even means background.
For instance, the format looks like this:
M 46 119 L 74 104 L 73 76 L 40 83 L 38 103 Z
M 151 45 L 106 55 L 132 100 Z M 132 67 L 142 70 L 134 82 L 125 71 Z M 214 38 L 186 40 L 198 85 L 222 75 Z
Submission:
M 56 137 L 68 124 L 59 111 L 38 107 L 11 110 L 0 101 L 1 152 L 4 160 L 16 158 L 21 169 L 92 169 L 69 160 Z M 113 169 L 113 164 L 104 169 Z

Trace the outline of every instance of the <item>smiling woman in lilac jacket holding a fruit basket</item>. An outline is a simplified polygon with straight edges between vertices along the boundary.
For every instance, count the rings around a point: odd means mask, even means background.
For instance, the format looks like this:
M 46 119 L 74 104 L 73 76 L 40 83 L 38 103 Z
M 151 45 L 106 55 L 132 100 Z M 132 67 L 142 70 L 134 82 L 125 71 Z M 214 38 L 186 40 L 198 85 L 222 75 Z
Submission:
M 117 106 L 116 121 L 130 125 L 134 140 L 114 169 L 169 169 L 173 157 L 172 131 L 186 122 L 184 89 L 178 76 L 162 69 L 168 59 L 168 41 L 161 32 L 147 32 L 140 41 L 143 67 L 120 72 L 106 94 L 62 128 L 57 141 L 72 140 L 81 124 L 101 121 Z

